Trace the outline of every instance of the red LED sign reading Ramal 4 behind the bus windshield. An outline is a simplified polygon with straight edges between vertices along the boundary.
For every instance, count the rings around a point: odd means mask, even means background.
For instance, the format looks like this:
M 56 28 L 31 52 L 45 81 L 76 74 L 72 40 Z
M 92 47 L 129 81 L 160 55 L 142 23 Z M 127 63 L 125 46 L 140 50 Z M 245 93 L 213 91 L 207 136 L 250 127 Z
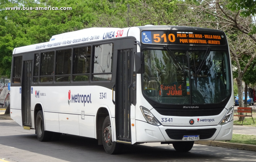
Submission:
M 160 85 L 159 95 L 162 97 L 182 97 L 182 84 Z

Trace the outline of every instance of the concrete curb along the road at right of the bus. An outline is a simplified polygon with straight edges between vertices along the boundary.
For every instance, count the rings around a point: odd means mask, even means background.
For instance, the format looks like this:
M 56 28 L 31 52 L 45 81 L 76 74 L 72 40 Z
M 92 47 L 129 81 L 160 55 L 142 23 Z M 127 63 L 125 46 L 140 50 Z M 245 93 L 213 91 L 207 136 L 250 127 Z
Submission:
M 238 150 L 256 151 L 256 145 L 250 145 L 250 144 L 229 143 L 229 142 L 220 142 L 220 141 L 195 141 L 195 144 L 225 147 L 225 148 L 232 148 L 232 149 L 238 149 Z

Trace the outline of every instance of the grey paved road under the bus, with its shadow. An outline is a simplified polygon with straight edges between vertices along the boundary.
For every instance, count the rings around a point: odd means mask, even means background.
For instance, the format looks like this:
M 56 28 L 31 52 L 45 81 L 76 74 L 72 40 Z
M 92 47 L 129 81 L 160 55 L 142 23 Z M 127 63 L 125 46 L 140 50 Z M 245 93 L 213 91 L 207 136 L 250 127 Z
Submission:
M 194 145 L 190 152 L 176 152 L 172 145 L 126 145 L 122 154 L 106 154 L 91 138 L 61 135 L 57 142 L 39 142 L 34 130 L 24 130 L 12 120 L 0 119 L 0 159 L 9 162 L 205 162 L 255 161 L 254 151 Z

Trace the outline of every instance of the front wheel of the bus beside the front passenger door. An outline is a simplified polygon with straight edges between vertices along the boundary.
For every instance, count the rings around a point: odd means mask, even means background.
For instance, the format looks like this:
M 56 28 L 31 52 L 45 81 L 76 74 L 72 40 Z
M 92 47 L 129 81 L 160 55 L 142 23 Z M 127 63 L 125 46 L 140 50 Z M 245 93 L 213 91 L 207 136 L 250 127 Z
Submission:
M 108 135 L 108 134 L 110 134 L 110 135 Z M 108 140 L 106 140 L 106 139 L 108 139 Z M 103 147 L 104 147 L 106 153 L 108 153 L 108 154 L 119 153 L 122 150 L 123 145 L 124 145 L 124 144 L 112 141 L 112 128 L 111 128 L 111 122 L 110 122 L 109 116 L 107 116 L 103 122 L 102 142 L 103 142 Z

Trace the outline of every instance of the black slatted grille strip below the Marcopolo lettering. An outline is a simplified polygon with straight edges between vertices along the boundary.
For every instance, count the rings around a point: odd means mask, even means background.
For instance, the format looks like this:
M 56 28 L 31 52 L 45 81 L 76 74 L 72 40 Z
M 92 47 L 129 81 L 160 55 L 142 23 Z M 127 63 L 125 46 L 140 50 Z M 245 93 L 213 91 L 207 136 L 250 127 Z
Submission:
M 155 110 L 165 116 L 214 116 L 219 115 L 224 108 L 211 108 L 211 109 L 168 109 L 168 108 L 155 108 Z

